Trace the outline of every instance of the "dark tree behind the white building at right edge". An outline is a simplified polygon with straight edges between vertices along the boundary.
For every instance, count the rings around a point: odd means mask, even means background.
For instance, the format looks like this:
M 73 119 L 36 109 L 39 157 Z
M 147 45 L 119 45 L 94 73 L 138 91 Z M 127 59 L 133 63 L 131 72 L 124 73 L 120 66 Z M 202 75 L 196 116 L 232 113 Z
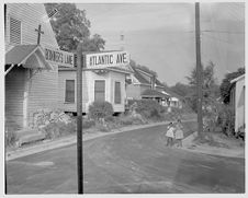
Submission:
M 223 102 L 225 104 L 229 104 L 230 101 L 230 88 L 232 88 L 232 83 L 230 81 L 241 74 L 245 73 L 245 68 L 239 68 L 237 71 L 233 72 L 233 73 L 227 73 L 225 75 L 225 78 L 222 81 L 222 84 L 219 86 L 219 91 L 221 91 L 221 96 L 223 98 Z

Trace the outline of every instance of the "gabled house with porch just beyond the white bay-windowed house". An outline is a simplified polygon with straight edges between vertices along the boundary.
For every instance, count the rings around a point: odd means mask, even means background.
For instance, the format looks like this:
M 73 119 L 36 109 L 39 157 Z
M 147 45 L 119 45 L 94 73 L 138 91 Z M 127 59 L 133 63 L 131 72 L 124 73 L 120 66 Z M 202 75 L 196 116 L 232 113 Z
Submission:
M 162 93 L 165 85 L 150 72 L 132 67 L 133 73 L 128 77 L 131 83 L 126 86 L 127 100 L 151 98 L 162 104 L 169 97 Z

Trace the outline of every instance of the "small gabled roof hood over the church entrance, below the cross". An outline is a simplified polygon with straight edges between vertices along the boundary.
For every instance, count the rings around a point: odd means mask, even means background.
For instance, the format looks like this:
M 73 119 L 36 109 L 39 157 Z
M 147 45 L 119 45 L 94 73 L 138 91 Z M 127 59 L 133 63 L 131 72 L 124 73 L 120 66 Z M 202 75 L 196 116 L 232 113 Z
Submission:
M 41 65 L 42 63 L 42 65 Z M 40 45 L 18 45 L 5 54 L 5 65 L 22 65 L 24 68 L 53 69 Z

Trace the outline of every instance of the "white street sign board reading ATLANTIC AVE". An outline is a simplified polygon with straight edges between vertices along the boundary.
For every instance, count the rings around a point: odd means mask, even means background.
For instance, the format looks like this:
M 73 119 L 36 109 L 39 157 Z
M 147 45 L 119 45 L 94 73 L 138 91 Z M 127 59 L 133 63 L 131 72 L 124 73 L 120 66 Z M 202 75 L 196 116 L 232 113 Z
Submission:
M 86 68 L 98 69 L 108 67 L 122 67 L 129 63 L 127 51 L 95 53 L 86 55 Z

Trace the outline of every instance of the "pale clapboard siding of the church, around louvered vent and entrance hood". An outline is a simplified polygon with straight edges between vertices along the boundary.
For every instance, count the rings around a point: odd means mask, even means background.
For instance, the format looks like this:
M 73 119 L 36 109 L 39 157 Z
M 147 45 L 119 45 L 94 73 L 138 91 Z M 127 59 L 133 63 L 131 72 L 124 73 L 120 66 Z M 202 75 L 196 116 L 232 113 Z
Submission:
M 10 44 L 10 18 L 21 21 L 21 45 L 35 45 L 37 44 L 37 32 L 35 28 L 42 25 L 44 34 L 41 36 L 41 46 L 58 48 L 55 34 L 50 26 L 50 23 L 45 22 L 46 16 L 45 7 L 42 3 L 7 3 L 7 23 L 5 23 L 5 53 L 10 50 L 13 44 Z M 15 79 L 22 78 L 24 81 L 23 89 L 20 89 L 21 83 L 16 83 L 15 86 L 5 85 L 7 95 L 7 120 L 5 123 L 18 123 L 21 127 L 26 127 L 31 123 L 31 117 L 34 112 L 41 108 L 56 108 L 58 97 L 58 67 L 54 66 L 54 70 L 31 69 L 29 73 L 23 77 L 19 77 L 20 72 L 14 78 L 14 70 L 11 70 L 7 74 L 7 82 L 15 81 Z M 33 74 L 32 74 L 33 73 Z M 18 95 L 13 97 L 13 93 L 19 88 L 19 91 L 14 93 Z M 23 95 L 26 95 L 26 100 L 23 100 Z M 21 97 L 22 96 L 22 97 Z M 14 103 L 14 104 L 13 104 Z M 16 116 L 18 114 L 18 116 Z M 15 120 L 15 117 L 16 120 Z

